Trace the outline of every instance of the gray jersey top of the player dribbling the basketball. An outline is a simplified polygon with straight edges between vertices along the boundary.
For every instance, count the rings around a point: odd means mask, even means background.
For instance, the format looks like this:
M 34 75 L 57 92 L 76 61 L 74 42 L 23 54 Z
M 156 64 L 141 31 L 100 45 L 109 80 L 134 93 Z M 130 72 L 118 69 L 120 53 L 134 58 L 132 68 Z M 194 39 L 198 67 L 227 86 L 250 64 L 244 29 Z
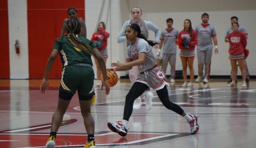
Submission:
M 146 40 L 137 38 L 137 41 L 134 44 L 130 44 L 127 47 L 127 57 L 129 59 L 139 59 L 139 54 L 141 52 L 146 52 L 146 57 L 144 63 L 138 65 L 139 73 L 150 70 L 157 64 L 157 61 L 155 60 L 154 54 L 151 50 L 151 46 L 146 42 Z

